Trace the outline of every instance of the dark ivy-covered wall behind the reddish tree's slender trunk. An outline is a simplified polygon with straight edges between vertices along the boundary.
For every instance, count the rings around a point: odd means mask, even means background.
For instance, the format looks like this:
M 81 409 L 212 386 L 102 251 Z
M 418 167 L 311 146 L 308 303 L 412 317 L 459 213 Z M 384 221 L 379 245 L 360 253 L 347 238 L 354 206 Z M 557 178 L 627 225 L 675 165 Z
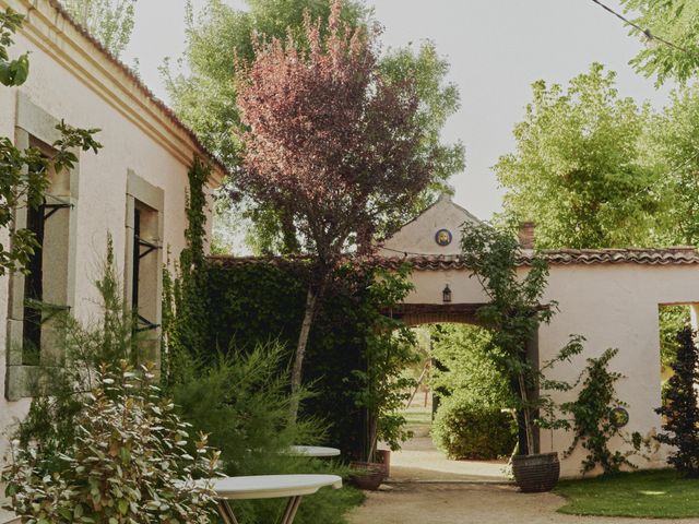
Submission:
M 304 383 L 312 396 L 303 413 L 330 422 L 328 445 L 356 454 L 365 445 L 365 413 L 356 407 L 358 381 L 353 370 L 364 369 L 365 333 L 375 309 L 366 287 L 370 271 L 347 269 L 336 275 L 310 335 Z M 203 358 L 218 352 L 246 352 L 258 343 L 279 340 L 293 356 L 304 313 L 308 264 L 304 260 L 210 258 L 198 272 L 200 300 L 196 336 Z M 191 325 L 191 323 L 190 323 Z

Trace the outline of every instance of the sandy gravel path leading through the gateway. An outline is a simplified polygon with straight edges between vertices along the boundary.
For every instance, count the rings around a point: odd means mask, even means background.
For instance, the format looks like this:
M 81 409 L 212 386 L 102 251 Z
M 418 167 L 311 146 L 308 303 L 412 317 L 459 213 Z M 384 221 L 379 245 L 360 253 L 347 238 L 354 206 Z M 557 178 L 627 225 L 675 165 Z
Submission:
M 557 513 L 554 493 L 520 493 L 506 484 L 502 462 L 448 461 L 431 443 L 429 427 L 391 458 L 391 481 L 367 492 L 351 524 L 699 524 L 699 519 L 648 520 Z

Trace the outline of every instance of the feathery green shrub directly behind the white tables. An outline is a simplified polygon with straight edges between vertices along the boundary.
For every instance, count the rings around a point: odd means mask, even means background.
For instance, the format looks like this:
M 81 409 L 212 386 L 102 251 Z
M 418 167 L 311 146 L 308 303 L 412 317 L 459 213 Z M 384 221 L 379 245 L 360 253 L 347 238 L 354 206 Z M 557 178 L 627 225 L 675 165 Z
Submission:
M 324 424 L 301 418 L 288 425 L 288 372 L 284 369 L 284 347 L 257 346 L 247 354 L 230 350 L 213 364 L 178 359 L 178 381 L 169 393 L 182 418 L 196 431 L 209 433 L 209 442 L 221 451 L 223 473 L 236 475 L 331 473 L 346 469 L 333 462 L 291 457 L 283 451 L 295 443 L 323 440 Z M 298 523 L 311 524 L 322 516 L 329 524 L 344 522 L 342 514 L 363 497 L 352 488 L 321 490 L 304 501 Z M 241 523 L 274 522 L 281 502 L 238 502 Z M 312 516 L 310 516 L 312 515 Z

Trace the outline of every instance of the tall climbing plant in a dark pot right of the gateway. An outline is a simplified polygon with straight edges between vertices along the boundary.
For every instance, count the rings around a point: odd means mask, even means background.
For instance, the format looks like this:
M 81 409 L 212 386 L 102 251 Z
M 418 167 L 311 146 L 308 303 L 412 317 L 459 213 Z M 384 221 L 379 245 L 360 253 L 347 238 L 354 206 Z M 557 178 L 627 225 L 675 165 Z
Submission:
M 571 336 L 558 356 L 538 368 L 528 348 L 538 326 L 550 322 L 557 303 L 543 301 L 548 264 L 542 257 L 526 260 L 528 272 L 518 275 L 521 248 L 510 234 L 485 224 L 466 224 L 462 253 L 489 302 L 477 311 L 478 320 L 491 332 L 489 355 L 511 384 L 512 407 L 518 414 L 519 444 L 512 456 L 514 479 L 522 491 L 548 491 L 558 481 L 557 453 L 537 453 L 536 426 L 565 427 L 554 418 L 555 406 L 540 390 L 567 390 L 564 382 L 548 381 L 543 371 L 556 361 L 568 360 L 582 350 L 582 337 Z

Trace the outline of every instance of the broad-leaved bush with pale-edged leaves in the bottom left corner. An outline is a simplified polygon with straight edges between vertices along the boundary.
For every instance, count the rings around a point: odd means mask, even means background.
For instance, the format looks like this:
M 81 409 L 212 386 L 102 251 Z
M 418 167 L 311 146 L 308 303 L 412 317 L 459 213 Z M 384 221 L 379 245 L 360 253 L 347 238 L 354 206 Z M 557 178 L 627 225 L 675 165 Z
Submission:
M 2 474 L 8 509 L 28 524 L 210 522 L 211 481 L 194 477 L 213 477 L 218 453 L 203 434 L 188 442 L 188 425 L 150 368 L 103 367 L 86 404 L 74 442 L 58 456 L 15 443 Z

